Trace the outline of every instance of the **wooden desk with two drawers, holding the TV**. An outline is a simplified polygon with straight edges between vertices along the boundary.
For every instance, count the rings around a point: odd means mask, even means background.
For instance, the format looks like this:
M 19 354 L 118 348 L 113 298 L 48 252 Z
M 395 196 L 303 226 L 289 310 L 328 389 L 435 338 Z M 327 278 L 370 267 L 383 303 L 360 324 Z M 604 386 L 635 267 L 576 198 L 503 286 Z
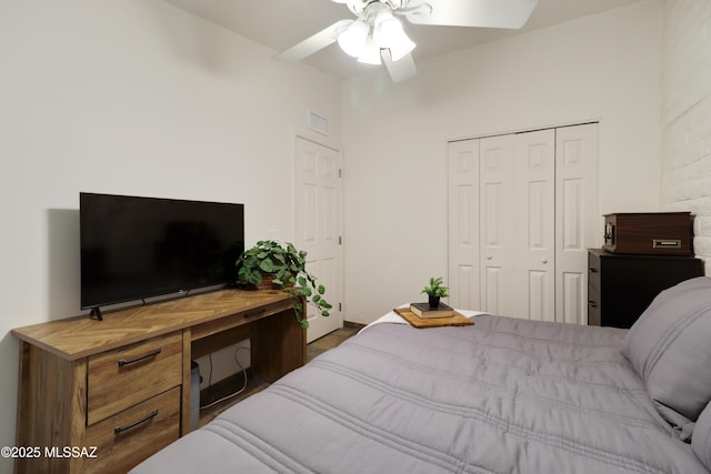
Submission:
M 306 362 L 280 291 L 221 290 L 12 331 L 20 340 L 18 473 L 123 473 L 190 431 L 190 362 L 251 340 L 254 379 Z

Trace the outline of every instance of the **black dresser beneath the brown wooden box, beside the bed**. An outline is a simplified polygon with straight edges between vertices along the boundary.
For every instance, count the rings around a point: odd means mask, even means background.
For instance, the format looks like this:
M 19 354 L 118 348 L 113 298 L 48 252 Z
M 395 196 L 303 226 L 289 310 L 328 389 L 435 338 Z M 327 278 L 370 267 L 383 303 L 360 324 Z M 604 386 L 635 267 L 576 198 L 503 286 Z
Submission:
M 703 275 L 693 256 L 588 252 L 588 324 L 631 327 L 662 290 Z

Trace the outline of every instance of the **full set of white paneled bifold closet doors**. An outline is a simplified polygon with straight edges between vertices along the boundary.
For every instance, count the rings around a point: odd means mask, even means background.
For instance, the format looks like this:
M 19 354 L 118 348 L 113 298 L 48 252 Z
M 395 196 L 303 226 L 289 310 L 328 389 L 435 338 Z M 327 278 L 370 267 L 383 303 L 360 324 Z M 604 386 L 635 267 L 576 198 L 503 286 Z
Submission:
M 449 143 L 450 304 L 587 323 L 597 131 L 591 123 Z

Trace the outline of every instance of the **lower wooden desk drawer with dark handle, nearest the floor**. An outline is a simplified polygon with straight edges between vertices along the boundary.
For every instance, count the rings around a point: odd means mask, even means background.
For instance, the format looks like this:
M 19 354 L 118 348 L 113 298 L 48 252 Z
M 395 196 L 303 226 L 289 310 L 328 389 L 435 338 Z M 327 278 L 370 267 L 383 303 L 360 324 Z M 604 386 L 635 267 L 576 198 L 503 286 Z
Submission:
M 180 434 L 180 387 L 87 428 L 84 446 L 96 446 L 96 457 L 84 461 L 86 473 L 126 473 Z

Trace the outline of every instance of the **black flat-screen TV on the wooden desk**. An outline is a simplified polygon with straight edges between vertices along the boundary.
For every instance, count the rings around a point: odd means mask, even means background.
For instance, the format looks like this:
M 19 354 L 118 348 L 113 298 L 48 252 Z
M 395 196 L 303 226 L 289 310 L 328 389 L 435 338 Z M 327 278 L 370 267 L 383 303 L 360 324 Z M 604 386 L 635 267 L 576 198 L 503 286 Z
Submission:
M 80 193 L 81 307 L 236 280 L 244 205 Z

